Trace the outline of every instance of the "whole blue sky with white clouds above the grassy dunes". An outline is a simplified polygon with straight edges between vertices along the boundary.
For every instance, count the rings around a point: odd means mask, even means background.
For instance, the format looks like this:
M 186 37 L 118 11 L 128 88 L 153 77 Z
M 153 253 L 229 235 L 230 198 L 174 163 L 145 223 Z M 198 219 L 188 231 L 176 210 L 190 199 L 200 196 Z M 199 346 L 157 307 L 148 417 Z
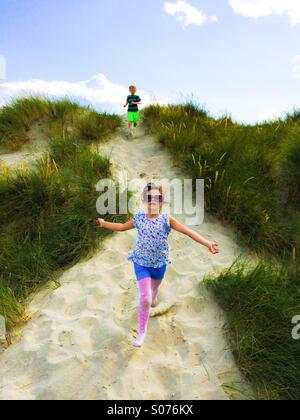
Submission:
M 45 92 L 121 112 L 136 83 L 145 103 L 194 97 L 244 122 L 300 107 L 299 0 L 1 0 L 0 9 L 1 103 Z

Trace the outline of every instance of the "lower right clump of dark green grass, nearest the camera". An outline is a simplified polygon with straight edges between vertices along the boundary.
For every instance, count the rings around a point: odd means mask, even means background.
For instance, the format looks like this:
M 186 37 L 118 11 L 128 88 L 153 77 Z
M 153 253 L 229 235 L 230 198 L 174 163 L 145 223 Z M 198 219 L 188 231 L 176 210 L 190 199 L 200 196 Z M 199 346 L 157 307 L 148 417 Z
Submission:
M 299 269 L 237 263 L 206 283 L 228 315 L 231 347 L 257 397 L 299 400 L 300 341 L 292 337 L 292 319 L 300 315 Z

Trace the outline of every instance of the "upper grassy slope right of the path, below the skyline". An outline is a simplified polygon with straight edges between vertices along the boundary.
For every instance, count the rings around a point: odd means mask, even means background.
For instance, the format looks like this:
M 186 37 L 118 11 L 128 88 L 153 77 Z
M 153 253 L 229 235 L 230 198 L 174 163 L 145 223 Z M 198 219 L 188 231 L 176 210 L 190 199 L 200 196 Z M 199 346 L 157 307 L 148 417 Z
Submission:
M 191 177 L 205 179 L 207 211 L 259 253 L 299 255 L 299 113 L 256 126 L 214 119 L 192 104 L 150 106 L 143 117 Z

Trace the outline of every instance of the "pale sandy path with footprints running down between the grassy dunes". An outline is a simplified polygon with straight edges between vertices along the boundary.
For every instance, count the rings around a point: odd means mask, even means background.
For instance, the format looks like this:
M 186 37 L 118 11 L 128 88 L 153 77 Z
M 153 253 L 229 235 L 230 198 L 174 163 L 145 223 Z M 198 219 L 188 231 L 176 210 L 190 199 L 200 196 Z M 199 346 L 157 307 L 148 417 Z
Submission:
M 131 142 L 120 134 L 101 151 L 116 173 L 177 175 L 142 132 Z M 228 399 L 224 385 L 240 387 L 242 379 L 224 339 L 223 313 L 201 280 L 229 267 L 240 250 L 215 219 L 198 230 L 222 253 L 214 257 L 172 234 L 174 263 L 142 349 L 132 347 L 138 294 L 127 255 L 135 231 L 110 237 L 103 251 L 62 276 L 59 289 L 38 294 L 32 320 L 1 356 L 0 399 Z

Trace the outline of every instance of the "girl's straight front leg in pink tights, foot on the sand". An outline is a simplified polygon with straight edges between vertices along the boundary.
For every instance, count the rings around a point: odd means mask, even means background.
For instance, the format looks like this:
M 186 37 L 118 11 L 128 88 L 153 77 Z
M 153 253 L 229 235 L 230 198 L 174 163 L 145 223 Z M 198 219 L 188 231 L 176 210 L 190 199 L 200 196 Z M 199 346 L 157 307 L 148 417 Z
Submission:
M 140 304 L 138 310 L 139 335 L 134 343 L 135 347 L 141 347 L 147 334 L 150 318 L 150 308 L 152 304 L 151 278 L 138 281 L 140 289 Z

